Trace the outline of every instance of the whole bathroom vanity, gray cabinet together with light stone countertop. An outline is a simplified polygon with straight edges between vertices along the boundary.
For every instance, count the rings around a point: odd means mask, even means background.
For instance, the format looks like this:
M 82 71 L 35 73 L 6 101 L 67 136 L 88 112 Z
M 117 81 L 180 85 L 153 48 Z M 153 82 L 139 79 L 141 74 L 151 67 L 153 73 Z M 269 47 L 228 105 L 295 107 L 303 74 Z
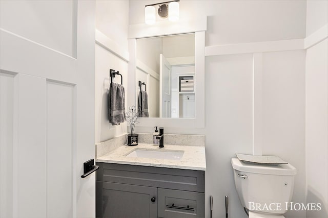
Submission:
M 169 156 L 140 157 L 136 151 Z M 204 147 L 166 144 L 159 149 L 139 143 L 121 146 L 96 161 L 96 217 L 205 216 Z

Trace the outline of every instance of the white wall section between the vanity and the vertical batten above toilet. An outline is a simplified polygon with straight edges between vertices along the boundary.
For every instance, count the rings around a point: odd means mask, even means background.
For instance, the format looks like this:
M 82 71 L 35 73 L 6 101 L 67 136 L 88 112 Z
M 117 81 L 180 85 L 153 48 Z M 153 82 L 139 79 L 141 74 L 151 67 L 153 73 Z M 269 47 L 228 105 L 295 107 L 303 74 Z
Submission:
M 252 71 L 252 54 L 206 58 L 206 127 L 191 131 L 206 135 L 206 217 L 209 196 L 214 201 L 213 217 L 224 217 L 224 196 L 229 196 L 230 217 L 247 217 L 235 190 L 230 161 L 236 152 L 252 153 Z

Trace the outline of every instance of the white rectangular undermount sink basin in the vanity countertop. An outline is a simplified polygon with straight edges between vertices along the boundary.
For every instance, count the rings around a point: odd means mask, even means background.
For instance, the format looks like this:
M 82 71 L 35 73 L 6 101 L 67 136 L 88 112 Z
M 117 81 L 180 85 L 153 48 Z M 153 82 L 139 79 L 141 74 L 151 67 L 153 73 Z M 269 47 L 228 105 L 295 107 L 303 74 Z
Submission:
M 136 149 L 131 153 L 127 154 L 127 157 L 142 157 L 142 158 L 154 158 L 154 159 L 168 159 L 168 160 L 180 160 L 183 156 L 184 151 L 176 150 L 144 150 Z

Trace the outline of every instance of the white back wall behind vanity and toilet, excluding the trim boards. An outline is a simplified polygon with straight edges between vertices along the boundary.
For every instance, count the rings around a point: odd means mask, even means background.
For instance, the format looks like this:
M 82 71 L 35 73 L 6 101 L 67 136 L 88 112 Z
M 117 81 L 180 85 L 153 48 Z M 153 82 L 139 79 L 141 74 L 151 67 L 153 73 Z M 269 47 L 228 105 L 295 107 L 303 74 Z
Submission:
M 129 13 L 130 25 L 144 22 L 147 4 L 150 1 L 130 1 L 134 9 Z M 302 39 L 305 10 L 305 1 L 180 2 L 181 19 L 208 16 L 207 46 Z M 261 149 L 263 155 L 281 156 L 297 167 L 293 201 L 304 203 L 305 54 L 286 51 L 262 56 L 263 61 L 254 66 L 261 66 L 263 76 Z M 206 217 L 210 217 L 209 196 L 214 198 L 213 217 L 224 217 L 226 195 L 230 199 L 229 216 L 247 217 L 237 196 L 230 160 L 237 152 L 252 154 L 253 53 L 207 57 L 205 74 L 206 127 L 165 128 L 165 132 L 206 135 Z M 136 127 L 136 131 L 152 132 L 152 128 Z M 305 211 L 288 212 L 286 217 L 305 217 Z

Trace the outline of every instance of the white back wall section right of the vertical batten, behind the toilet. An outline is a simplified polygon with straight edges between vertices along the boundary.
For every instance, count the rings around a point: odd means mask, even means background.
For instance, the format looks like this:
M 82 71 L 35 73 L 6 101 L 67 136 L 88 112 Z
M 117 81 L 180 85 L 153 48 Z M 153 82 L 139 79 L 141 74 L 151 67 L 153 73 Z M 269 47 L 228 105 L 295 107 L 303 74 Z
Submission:
M 292 201 L 305 203 L 305 51 L 263 53 L 263 155 L 297 169 Z M 304 217 L 289 211 L 286 217 Z

